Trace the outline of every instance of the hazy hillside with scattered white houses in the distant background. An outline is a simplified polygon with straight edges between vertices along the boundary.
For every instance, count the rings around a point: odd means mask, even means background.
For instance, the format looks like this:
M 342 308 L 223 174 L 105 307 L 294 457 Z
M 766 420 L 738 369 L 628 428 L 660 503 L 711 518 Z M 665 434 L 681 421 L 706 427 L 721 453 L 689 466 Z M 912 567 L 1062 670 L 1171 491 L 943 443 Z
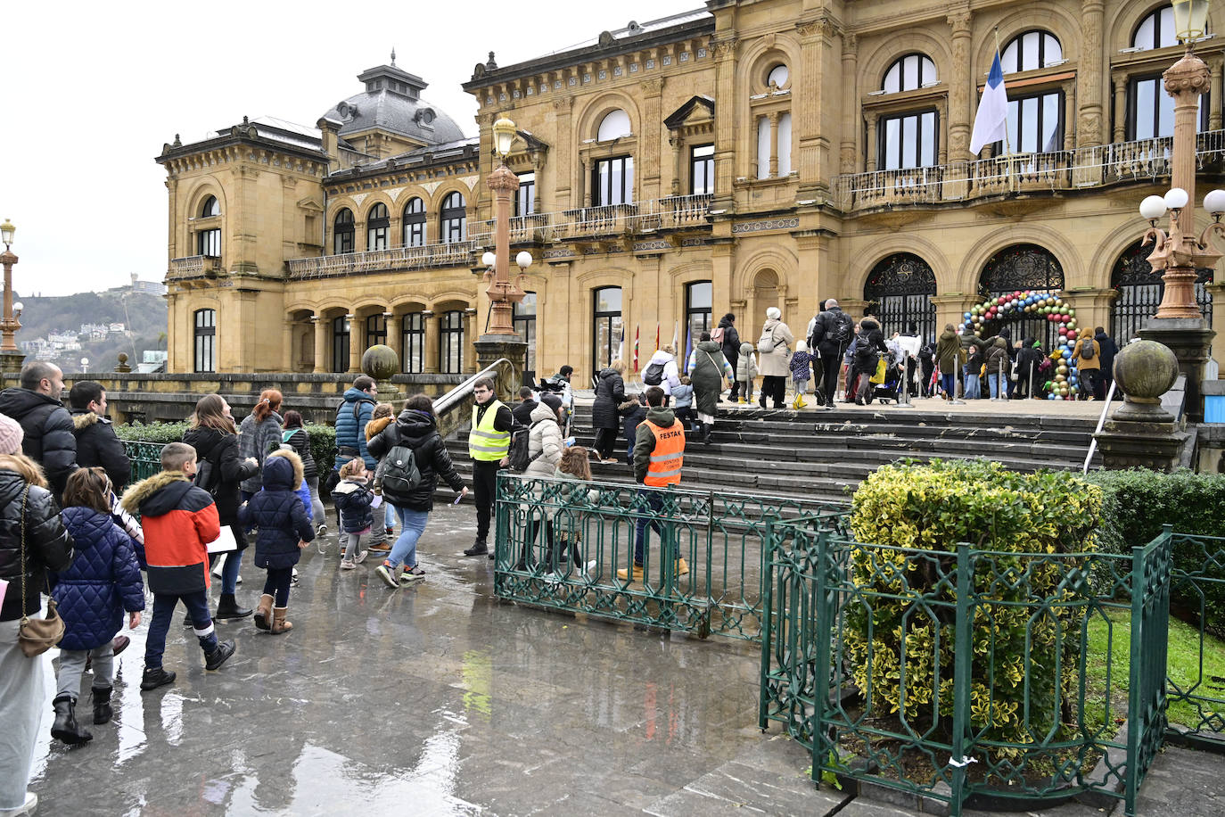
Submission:
M 65 372 L 81 371 L 81 358 L 88 358 L 91 371 L 110 371 L 120 352 L 127 353 L 135 369 L 146 349 L 165 348 L 167 304 L 160 295 L 131 292 L 129 288 L 104 293 L 76 293 L 60 296 L 26 296 L 21 301 L 21 331 L 17 344 L 47 338 L 50 333 L 76 334 L 82 323 L 123 323 L 129 336 L 113 333 L 103 339 L 83 341 L 80 350 L 53 359 Z M 28 354 L 28 352 L 27 352 Z

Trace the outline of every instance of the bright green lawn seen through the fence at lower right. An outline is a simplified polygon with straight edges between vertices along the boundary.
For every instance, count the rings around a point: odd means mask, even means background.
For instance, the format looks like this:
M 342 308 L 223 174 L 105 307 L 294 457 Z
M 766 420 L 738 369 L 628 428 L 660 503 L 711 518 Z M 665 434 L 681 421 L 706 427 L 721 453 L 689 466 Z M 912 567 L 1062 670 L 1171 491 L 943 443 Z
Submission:
M 1127 688 L 1131 669 L 1132 616 L 1111 610 L 1089 622 L 1085 657 L 1085 712 L 1105 715 L 1109 699 L 1111 718 L 1127 717 Z M 1225 718 L 1225 641 L 1177 619 L 1170 619 L 1167 690 L 1171 724 L 1213 730 Z M 1192 696 L 1177 699 L 1180 691 Z M 1198 698 L 1208 698 L 1200 701 Z

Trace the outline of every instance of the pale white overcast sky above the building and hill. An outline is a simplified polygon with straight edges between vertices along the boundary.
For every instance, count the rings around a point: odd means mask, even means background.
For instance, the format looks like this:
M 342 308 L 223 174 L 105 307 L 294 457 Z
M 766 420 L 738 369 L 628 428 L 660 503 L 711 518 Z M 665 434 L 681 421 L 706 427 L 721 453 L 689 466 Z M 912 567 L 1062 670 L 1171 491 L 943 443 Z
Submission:
M 314 126 L 388 61 L 424 78 L 423 98 L 469 136 L 459 85 L 490 50 L 508 65 L 701 0 L 519 5 L 213 0 L 99 4 L 16 0 L 0 13 L 0 219 L 17 228 L 13 289 L 64 295 L 162 280 L 165 171 L 153 159 L 243 116 Z

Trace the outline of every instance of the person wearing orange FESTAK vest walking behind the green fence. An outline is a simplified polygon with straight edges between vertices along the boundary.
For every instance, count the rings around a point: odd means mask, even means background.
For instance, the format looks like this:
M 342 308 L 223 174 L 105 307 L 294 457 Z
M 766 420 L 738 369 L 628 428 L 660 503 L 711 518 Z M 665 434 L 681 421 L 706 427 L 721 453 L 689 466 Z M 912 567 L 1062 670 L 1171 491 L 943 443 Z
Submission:
M 638 506 L 648 510 L 650 516 L 639 516 L 633 524 L 633 576 L 632 581 L 642 581 L 646 574 L 647 525 L 659 534 L 662 541 L 660 557 L 671 552 L 676 560 L 675 576 L 688 573 L 688 565 L 680 557 L 676 548 L 675 532 L 665 528 L 659 514 L 665 511 L 666 489 L 681 481 L 681 465 L 685 462 L 685 424 L 676 419 L 671 409 L 664 408 L 664 390 L 652 386 L 647 390 L 647 419 L 638 424 L 633 443 L 633 479 L 638 490 Z M 630 571 L 621 568 L 617 578 L 630 581 Z

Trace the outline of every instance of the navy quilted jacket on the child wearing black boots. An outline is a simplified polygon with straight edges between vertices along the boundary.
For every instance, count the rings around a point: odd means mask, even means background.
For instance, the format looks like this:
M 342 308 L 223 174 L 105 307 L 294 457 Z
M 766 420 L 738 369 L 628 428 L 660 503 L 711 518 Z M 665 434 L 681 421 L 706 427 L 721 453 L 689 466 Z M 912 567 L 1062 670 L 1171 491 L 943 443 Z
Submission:
M 109 513 L 64 508 L 64 527 L 72 534 L 77 556 L 50 574 L 51 598 L 64 616 L 60 649 L 102 647 L 124 627 L 124 612 L 145 609 L 145 579 L 136 563 L 136 546 Z

